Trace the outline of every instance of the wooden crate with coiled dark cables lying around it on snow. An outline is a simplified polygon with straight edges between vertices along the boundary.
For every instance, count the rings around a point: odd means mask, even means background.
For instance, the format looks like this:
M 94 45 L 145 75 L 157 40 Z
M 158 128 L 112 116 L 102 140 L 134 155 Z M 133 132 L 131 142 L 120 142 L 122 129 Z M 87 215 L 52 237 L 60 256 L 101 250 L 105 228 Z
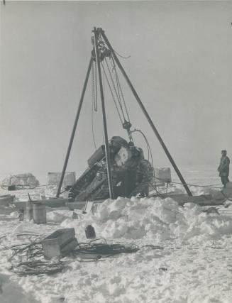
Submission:
M 71 243 L 71 245 L 70 245 Z M 67 260 L 60 259 L 70 255 L 81 261 L 99 260 L 120 253 L 136 253 L 139 248 L 131 244 L 108 244 L 105 239 L 95 239 L 89 243 L 78 243 L 74 228 L 64 228 L 51 233 L 42 241 L 36 238 L 31 243 L 11 246 L 13 250 L 9 262 L 10 270 L 17 275 L 53 275 L 67 268 Z

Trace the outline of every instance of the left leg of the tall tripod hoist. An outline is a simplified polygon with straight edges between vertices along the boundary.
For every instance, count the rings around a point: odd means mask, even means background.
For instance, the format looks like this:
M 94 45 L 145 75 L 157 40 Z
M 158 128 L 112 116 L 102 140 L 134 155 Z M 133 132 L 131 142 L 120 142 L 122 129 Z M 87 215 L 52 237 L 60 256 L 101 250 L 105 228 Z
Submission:
M 91 59 L 89 61 L 89 67 L 88 67 L 88 70 L 87 70 L 87 76 L 86 76 L 85 81 L 84 81 L 84 87 L 82 89 L 82 96 L 80 98 L 79 106 L 78 106 L 78 109 L 77 109 L 77 115 L 76 115 L 76 118 L 74 120 L 74 125 L 73 125 L 73 128 L 72 128 L 72 133 L 71 133 L 71 137 L 70 137 L 70 143 L 69 143 L 68 148 L 67 148 L 67 154 L 66 154 L 66 157 L 65 157 L 65 163 L 64 163 L 64 166 L 63 166 L 63 169 L 62 169 L 62 174 L 61 174 L 61 177 L 60 177 L 60 184 L 59 184 L 59 187 L 57 189 L 56 197 L 60 196 L 60 189 L 62 187 L 62 183 L 63 183 L 64 177 L 65 177 L 65 172 L 66 172 L 66 168 L 67 168 L 67 162 L 68 162 L 68 160 L 70 158 L 70 152 L 71 152 L 71 148 L 72 148 L 72 143 L 73 143 L 75 131 L 76 131 L 76 128 L 77 128 L 77 123 L 78 123 L 78 120 L 79 120 L 79 114 L 80 114 L 81 109 L 82 109 L 82 104 L 83 104 L 83 100 L 84 100 L 84 93 L 85 93 L 85 90 L 87 88 L 87 83 L 88 83 L 88 80 L 89 80 L 89 74 L 90 74 L 90 71 L 91 71 L 91 67 L 92 67 L 92 57 L 91 57 Z

